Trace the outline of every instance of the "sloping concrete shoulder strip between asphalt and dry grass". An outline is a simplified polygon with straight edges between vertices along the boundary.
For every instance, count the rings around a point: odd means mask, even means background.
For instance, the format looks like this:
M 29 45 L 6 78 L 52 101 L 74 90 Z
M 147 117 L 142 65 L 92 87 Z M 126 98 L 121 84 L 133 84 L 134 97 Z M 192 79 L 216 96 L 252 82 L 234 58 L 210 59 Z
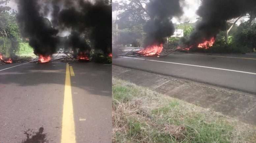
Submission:
M 256 125 L 255 95 L 115 65 L 112 76 Z

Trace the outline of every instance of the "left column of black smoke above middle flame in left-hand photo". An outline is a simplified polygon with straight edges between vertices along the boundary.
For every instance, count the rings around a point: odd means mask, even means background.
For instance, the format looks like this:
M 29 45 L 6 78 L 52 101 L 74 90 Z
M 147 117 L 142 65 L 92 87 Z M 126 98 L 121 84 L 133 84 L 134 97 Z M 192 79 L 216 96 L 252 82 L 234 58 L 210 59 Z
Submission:
M 17 21 L 22 35 L 29 38 L 29 45 L 36 55 L 50 55 L 58 43 L 58 30 L 51 27 L 50 21 L 40 13 L 38 0 L 17 0 Z

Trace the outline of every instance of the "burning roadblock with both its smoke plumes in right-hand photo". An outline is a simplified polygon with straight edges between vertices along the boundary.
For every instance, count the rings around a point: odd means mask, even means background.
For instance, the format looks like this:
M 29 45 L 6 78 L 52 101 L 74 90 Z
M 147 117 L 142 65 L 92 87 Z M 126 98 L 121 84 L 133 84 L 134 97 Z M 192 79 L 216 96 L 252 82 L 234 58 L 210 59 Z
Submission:
M 162 56 L 176 51 L 190 50 L 191 48 L 208 49 L 213 46 L 216 36 L 220 31 L 227 30 L 228 20 L 245 15 L 256 7 L 255 0 L 202 0 L 202 4 L 196 11 L 201 20 L 196 24 L 194 31 L 181 38 L 182 45 L 175 47 L 169 53 L 163 53 L 164 37 L 174 33 L 173 24 L 170 22 L 173 16 L 180 16 L 182 10 L 179 0 L 153 0 L 148 5 L 151 20 L 144 26 L 146 32 L 145 48 L 132 49 L 119 56 Z M 137 50 L 135 52 L 135 50 Z

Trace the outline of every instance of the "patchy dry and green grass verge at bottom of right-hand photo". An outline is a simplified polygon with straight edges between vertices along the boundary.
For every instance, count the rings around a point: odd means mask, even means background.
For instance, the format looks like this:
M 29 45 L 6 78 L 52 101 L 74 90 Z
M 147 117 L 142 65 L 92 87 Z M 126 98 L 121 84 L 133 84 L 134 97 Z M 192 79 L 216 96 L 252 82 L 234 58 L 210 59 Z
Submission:
M 256 128 L 112 79 L 113 143 L 255 143 Z

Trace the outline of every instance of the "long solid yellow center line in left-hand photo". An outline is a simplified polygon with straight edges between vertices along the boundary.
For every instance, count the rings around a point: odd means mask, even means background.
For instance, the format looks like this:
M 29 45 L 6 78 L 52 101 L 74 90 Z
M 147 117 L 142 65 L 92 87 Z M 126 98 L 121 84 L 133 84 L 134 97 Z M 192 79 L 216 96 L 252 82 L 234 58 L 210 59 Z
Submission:
M 64 90 L 61 143 L 76 143 L 73 103 L 71 94 L 70 68 L 67 63 Z

